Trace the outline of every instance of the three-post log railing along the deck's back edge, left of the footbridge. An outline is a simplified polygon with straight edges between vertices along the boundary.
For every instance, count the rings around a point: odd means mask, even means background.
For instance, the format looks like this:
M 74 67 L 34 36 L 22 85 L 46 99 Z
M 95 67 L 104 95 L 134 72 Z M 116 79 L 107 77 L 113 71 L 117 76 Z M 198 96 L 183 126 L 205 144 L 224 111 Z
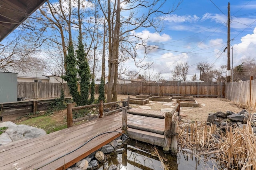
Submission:
M 130 96 L 128 96 L 127 100 L 122 100 L 122 101 L 117 101 L 117 102 L 103 103 L 103 100 L 100 100 L 99 104 L 90 104 L 90 105 L 77 106 L 77 107 L 72 107 L 72 104 L 68 104 L 68 106 L 67 106 L 67 123 L 68 123 L 68 127 L 72 127 L 73 126 L 73 122 L 82 121 L 82 120 L 85 120 L 85 119 L 90 119 L 92 117 L 102 118 L 103 115 L 107 115 L 109 113 L 113 113 L 113 112 L 122 110 L 123 108 L 129 108 L 129 101 L 130 101 Z M 119 109 L 103 112 L 103 106 L 112 105 L 112 104 L 116 104 L 116 103 L 120 103 L 120 102 L 127 102 L 127 106 L 126 107 L 121 107 Z M 88 116 L 80 117 L 80 118 L 77 118 L 77 119 L 73 119 L 73 111 L 74 110 L 86 109 L 86 108 L 90 108 L 90 107 L 99 107 L 99 113 L 96 114 L 96 115 L 88 115 Z

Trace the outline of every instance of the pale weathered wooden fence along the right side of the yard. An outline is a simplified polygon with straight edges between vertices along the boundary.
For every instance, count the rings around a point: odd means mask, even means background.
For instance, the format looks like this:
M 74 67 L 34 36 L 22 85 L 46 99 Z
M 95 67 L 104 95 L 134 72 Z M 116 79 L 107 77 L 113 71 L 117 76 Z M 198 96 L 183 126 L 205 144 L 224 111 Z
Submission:
M 225 98 L 240 106 L 256 106 L 256 80 L 225 84 Z

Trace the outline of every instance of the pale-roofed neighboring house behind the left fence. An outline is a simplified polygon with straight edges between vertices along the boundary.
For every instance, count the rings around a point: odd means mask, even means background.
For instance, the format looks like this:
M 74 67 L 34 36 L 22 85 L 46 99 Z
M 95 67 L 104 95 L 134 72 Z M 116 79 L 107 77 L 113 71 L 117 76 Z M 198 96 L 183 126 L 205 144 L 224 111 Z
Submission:
M 45 76 L 44 73 L 18 73 L 18 82 L 38 82 L 38 83 L 61 83 L 62 78 L 56 75 Z M 66 81 L 63 80 L 64 83 Z

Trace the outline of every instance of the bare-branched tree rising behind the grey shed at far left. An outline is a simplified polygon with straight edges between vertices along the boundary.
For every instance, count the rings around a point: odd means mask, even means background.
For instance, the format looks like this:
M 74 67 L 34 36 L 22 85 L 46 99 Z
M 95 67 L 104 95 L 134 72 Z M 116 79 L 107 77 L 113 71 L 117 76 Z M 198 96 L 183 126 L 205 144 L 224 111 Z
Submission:
M 18 31 L 14 37 L 6 38 L 0 46 L 0 70 L 9 72 L 44 71 L 45 63 L 34 42 L 25 39 Z

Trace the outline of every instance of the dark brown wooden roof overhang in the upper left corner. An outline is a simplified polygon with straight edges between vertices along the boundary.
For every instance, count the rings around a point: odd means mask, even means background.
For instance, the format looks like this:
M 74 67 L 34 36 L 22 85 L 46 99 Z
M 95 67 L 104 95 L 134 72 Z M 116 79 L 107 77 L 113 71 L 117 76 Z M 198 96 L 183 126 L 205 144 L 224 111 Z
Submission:
M 0 0 L 0 42 L 46 0 Z

